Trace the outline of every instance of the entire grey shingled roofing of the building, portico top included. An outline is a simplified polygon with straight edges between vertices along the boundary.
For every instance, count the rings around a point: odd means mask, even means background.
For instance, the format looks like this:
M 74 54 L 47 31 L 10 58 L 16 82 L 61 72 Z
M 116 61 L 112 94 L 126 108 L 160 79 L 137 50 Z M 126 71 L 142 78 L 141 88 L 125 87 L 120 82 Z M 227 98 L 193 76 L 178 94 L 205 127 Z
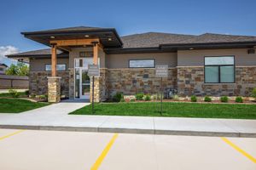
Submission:
M 88 26 L 79 26 L 79 27 L 70 27 L 63 29 L 55 29 L 49 31 L 84 31 L 84 30 L 96 30 L 102 29 L 97 27 L 88 27 Z M 48 31 L 48 32 L 49 32 Z M 184 35 L 184 34 L 172 34 L 172 33 L 163 33 L 163 32 L 147 32 L 141 34 L 133 34 L 129 36 L 120 37 L 123 42 L 123 48 L 120 49 L 111 49 L 112 51 L 117 50 L 129 50 L 129 48 L 160 48 L 160 46 L 173 44 L 177 46 L 182 45 L 193 45 L 193 44 L 207 44 L 207 43 L 242 43 L 250 42 L 251 44 L 256 44 L 256 37 L 253 36 L 235 36 L 235 35 L 226 35 L 226 34 L 213 34 L 205 33 L 199 36 L 195 35 Z M 167 47 L 167 46 L 166 46 Z M 57 51 L 58 55 L 67 55 L 61 51 Z M 35 55 L 50 55 L 50 49 L 40 49 L 34 51 L 28 51 L 20 54 L 10 54 L 8 57 L 19 57 L 19 56 L 35 56 Z

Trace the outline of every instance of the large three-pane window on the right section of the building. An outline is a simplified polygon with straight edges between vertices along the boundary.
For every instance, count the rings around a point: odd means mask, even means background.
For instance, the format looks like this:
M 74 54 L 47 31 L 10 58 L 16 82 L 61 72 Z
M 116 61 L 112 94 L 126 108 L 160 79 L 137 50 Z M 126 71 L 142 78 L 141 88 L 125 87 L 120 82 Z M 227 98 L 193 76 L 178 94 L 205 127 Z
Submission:
M 205 57 L 205 82 L 235 82 L 235 57 Z

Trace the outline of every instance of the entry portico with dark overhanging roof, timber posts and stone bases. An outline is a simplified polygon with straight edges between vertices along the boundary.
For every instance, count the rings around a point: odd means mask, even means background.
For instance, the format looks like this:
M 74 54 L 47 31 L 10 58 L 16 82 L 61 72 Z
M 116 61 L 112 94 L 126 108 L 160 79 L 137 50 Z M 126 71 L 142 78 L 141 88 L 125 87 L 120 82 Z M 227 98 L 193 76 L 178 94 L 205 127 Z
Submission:
M 49 102 L 59 102 L 61 100 L 61 77 L 57 75 L 57 49 L 64 53 L 69 54 L 68 68 L 70 74 L 73 75 L 69 79 L 74 78 L 73 84 L 69 84 L 69 87 L 73 87 L 74 92 L 69 92 L 69 98 L 86 98 L 86 93 L 90 95 L 90 78 L 87 77 L 87 65 L 94 64 L 100 65 L 99 54 L 103 53 L 103 48 L 121 48 L 122 42 L 117 35 L 115 29 L 105 29 L 96 27 L 76 27 L 68 29 L 56 29 L 49 31 L 36 31 L 36 32 L 22 32 L 22 34 L 34 41 L 44 43 L 51 47 L 51 75 L 48 77 L 48 99 Z M 79 56 L 72 56 L 73 50 L 80 48 Z M 101 52 L 100 52 L 101 51 Z M 92 57 L 92 59 L 81 58 L 81 53 L 86 53 L 86 58 Z M 92 56 L 90 56 L 90 54 Z M 105 59 L 102 59 L 104 62 Z M 90 63 L 90 61 L 92 63 Z M 78 65 L 76 65 L 78 63 Z M 77 81 L 79 79 L 79 81 Z M 101 77 L 96 77 L 96 93 L 95 100 L 100 101 L 101 87 L 99 82 Z M 75 84 L 77 83 L 77 85 Z M 86 86 L 89 86 L 86 88 Z M 70 90 L 69 90 L 70 91 Z M 83 93 L 81 93 L 83 92 Z M 91 99 L 92 96 L 90 96 Z M 89 97 L 88 97 L 89 98 Z

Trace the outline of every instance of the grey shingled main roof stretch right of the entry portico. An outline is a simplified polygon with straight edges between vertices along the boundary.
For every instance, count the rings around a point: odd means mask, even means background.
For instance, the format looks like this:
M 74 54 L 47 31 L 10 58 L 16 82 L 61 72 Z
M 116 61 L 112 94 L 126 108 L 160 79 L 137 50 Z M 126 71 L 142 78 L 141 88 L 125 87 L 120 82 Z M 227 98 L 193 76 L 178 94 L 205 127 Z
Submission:
M 209 42 L 256 42 L 253 36 L 234 36 L 225 34 L 205 33 L 199 36 L 147 32 L 121 37 L 123 48 L 152 48 L 160 44 L 209 43 Z

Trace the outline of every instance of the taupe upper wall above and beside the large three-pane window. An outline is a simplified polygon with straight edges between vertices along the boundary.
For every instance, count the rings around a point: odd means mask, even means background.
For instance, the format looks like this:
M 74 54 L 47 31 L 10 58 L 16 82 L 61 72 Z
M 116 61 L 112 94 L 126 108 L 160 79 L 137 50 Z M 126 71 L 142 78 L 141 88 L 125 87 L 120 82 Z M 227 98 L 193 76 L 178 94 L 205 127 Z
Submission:
M 222 55 L 235 55 L 236 65 L 256 65 L 256 54 L 247 54 L 247 48 L 237 48 L 177 51 L 177 66 L 204 65 L 205 56 Z

